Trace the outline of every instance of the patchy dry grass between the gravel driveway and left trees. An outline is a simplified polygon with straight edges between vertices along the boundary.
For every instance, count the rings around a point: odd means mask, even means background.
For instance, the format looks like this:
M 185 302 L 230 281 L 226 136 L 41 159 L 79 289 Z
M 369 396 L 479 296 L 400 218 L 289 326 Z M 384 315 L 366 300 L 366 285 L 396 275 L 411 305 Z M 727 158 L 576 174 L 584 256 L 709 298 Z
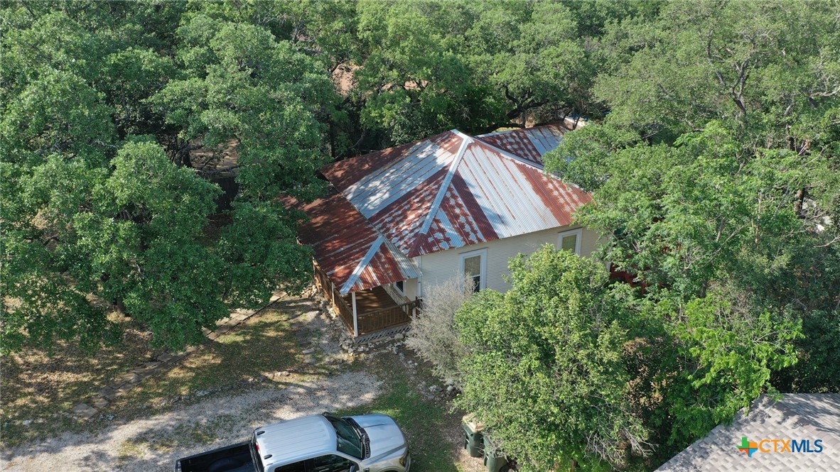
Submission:
M 3 359 L 0 445 L 8 448 L 44 434 L 95 430 L 105 423 L 165 412 L 204 394 L 247 387 L 254 379 L 287 370 L 300 360 L 286 314 L 270 307 L 157 371 L 87 423 L 77 423 L 66 415 L 73 406 L 88 402 L 92 392 L 162 353 L 150 350 L 150 336 L 134 329 L 130 320 L 121 322 L 129 328 L 123 345 L 96 355 L 57 345 L 51 356 L 30 351 Z

